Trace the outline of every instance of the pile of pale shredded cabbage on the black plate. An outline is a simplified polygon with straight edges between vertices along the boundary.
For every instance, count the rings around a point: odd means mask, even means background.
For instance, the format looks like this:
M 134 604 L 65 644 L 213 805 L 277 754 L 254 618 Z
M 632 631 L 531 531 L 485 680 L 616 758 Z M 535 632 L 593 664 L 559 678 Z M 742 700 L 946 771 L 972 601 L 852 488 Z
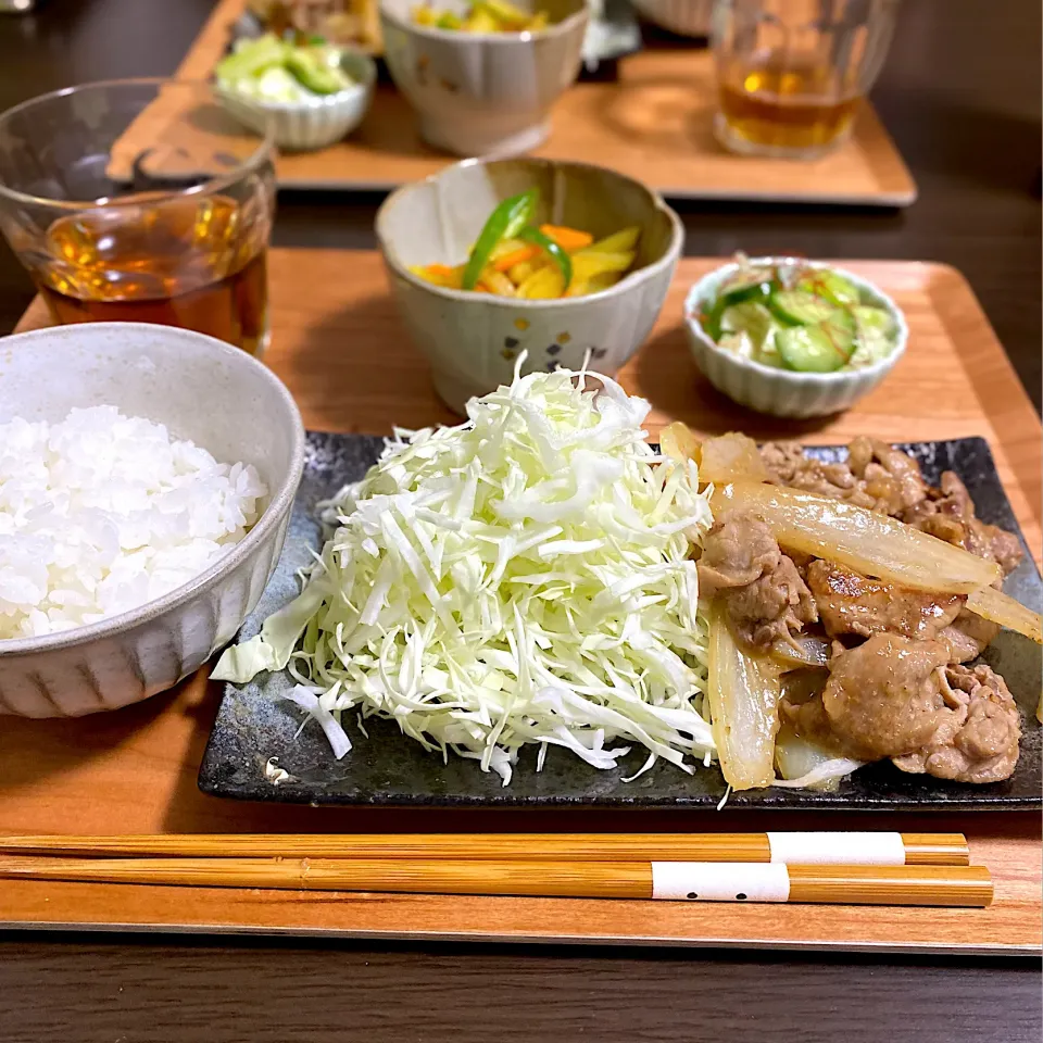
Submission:
M 636 744 L 641 771 L 708 764 L 689 554 L 708 497 L 692 461 L 649 447 L 648 412 L 606 377 L 560 369 L 472 400 L 458 427 L 397 431 L 326 506 L 339 527 L 300 596 L 214 676 L 288 666 L 289 698 L 338 757 L 354 711 L 504 784 L 526 743 L 540 768 L 552 745 L 596 768 Z

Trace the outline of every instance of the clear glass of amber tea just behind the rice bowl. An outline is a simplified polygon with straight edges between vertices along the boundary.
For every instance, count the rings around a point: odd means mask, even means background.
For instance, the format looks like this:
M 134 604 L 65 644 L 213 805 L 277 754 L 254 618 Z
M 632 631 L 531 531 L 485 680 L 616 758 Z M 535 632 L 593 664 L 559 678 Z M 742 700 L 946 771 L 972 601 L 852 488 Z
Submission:
M 58 323 L 162 323 L 261 354 L 272 156 L 205 84 L 55 91 L 0 114 L 0 229 Z

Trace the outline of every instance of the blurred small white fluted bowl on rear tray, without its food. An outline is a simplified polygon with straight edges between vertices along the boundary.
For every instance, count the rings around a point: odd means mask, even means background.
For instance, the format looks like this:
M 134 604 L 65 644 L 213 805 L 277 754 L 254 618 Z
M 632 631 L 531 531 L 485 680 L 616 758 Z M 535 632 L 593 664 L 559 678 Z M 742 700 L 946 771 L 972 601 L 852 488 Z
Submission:
M 344 50 L 341 67 L 355 81 L 335 95 L 293 102 L 259 101 L 214 84 L 214 93 L 240 123 L 264 134 L 268 126 L 280 149 L 307 152 L 324 149 L 351 134 L 373 102 L 377 66 L 361 51 Z

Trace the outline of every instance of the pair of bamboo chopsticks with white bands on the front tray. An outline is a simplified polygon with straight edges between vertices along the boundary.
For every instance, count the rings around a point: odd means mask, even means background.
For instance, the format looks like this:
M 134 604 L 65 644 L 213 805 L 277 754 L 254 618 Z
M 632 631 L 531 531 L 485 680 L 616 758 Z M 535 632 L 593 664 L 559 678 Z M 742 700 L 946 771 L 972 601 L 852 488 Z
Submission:
M 0 878 L 275 890 L 987 906 L 959 833 L 0 837 Z

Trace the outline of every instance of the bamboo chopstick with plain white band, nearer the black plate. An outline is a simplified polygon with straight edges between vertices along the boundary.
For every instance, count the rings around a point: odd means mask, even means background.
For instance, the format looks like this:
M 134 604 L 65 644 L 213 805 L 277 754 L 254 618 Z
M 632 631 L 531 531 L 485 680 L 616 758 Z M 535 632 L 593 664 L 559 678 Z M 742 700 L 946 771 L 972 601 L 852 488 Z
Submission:
M 809 854 L 813 850 L 814 857 Z M 887 856 L 889 864 L 906 866 L 970 864 L 963 833 L 888 832 L 41 835 L 0 837 L 0 851 L 90 856 L 743 863 L 771 862 L 774 854 L 776 862 L 872 865 Z

